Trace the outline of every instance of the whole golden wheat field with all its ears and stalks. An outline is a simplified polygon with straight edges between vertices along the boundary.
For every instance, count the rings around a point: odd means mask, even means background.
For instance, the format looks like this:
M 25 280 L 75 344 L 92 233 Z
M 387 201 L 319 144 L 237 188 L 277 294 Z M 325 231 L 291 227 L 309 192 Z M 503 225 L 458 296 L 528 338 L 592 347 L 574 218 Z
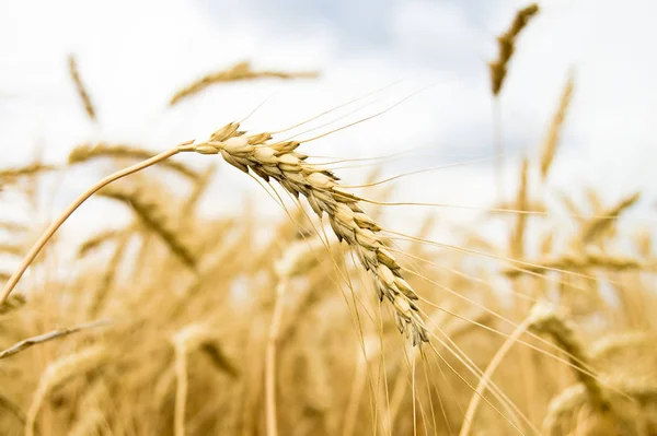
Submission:
M 516 39 L 537 13 L 518 11 L 497 38 L 496 120 Z M 93 90 L 74 57 L 68 66 L 97 122 Z M 230 82 L 293 86 L 316 74 L 240 62 L 181 87 L 170 105 Z M 1 433 L 657 435 L 655 228 L 622 225 L 654 199 L 590 186 L 555 195 L 550 174 L 577 86 L 575 72 L 564 79 L 514 195 L 500 184 L 487 208 L 468 210 L 502 228 L 502 243 L 484 225 L 445 228 L 441 211 L 459 204 L 392 201 L 397 176 L 413 172 L 387 178 L 377 158 L 313 156 L 307 142 L 367 129 L 369 117 L 328 127 L 333 108 L 278 132 L 228 120 L 104 186 L 82 208 L 105 202 L 128 223 L 79 245 L 55 234 L 16 282 L 45 227 L 11 217 L 38 214 L 44 176 L 95 162 L 118 172 L 157 153 L 72 144 L 65 166 L 0 167 L 11 212 L 0 221 Z M 189 153 L 205 166 L 188 165 Z M 343 177 L 345 165 L 358 177 Z M 199 212 L 235 168 L 278 204 L 275 220 L 249 202 L 235 214 Z M 422 226 L 389 225 L 412 208 Z

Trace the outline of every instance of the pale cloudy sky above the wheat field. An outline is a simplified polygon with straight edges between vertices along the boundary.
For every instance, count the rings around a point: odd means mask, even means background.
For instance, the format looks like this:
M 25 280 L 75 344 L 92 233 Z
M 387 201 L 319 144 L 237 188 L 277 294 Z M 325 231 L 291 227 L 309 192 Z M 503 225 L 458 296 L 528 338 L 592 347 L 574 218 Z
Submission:
M 515 0 L 160 0 L 0 1 L 0 167 L 26 163 L 43 148 L 64 164 L 83 142 L 123 142 L 153 151 L 245 117 L 252 131 L 278 130 L 356 96 L 323 117 L 319 134 L 392 107 L 385 114 L 303 145 L 311 155 L 385 160 L 384 175 L 407 176 L 400 201 L 485 207 L 495 201 L 492 98 L 486 62 L 495 35 L 527 2 Z M 610 203 L 644 191 L 637 222 L 657 225 L 657 2 L 545 0 L 520 37 L 500 95 L 505 188 L 512 196 L 519 162 L 535 160 L 568 71 L 575 93 L 548 193 L 599 188 Z M 96 107 L 91 122 L 70 78 L 74 54 Z M 321 78 L 215 86 L 174 108 L 178 87 L 207 72 L 251 60 L 256 69 L 318 70 Z M 207 156 L 176 157 L 201 167 Z M 107 168 L 74 168 L 53 185 L 54 214 Z M 345 169 L 347 182 L 364 170 Z M 178 184 L 180 180 L 168 180 Z M 251 179 L 222 165 L 210 212 L 265 199 Z M 258 197 L 260 196 L 260 197 Z M 269 200 L 265 200 L 269 201 Z M 105 211 L 112 211 L 111 213 Z M 276 208 L 263 207 L 263 216 Z M 453 212 L 453 211 L 452 211 Z M 447 213 L 447 211 L 445 212 Z M 416 223 L 420 212 L 397 208 Z M 119 220 L 100 203 L 80 223 Z M 103 219 L 101 219 L 103 216 Z M 51 215 L 45 216 L 48 221 Z

